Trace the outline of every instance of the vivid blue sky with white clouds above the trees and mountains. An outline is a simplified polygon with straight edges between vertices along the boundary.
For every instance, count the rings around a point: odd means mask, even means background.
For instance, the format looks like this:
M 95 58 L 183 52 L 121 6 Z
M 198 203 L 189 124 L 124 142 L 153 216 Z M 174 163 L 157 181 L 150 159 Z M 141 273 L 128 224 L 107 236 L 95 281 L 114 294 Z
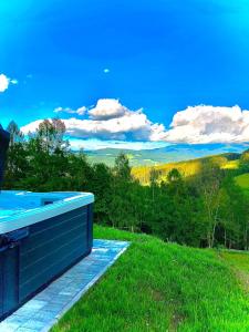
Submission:
M 249 142 L 247 0 L 11 0 L 0 22 L 3 125 L 60 116 L 74 146 Z

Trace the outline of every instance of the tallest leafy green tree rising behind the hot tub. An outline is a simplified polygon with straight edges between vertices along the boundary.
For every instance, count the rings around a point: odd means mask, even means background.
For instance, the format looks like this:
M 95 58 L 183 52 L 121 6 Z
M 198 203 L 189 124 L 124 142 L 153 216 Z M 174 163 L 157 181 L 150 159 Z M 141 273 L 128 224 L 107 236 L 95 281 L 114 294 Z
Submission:
M 69 175 L 69 143 L 61 120 L 44 120 L 34 134 L 30 134 L 27 151 L 29 168 L 23 187 L 50 191 L 66 189 Z

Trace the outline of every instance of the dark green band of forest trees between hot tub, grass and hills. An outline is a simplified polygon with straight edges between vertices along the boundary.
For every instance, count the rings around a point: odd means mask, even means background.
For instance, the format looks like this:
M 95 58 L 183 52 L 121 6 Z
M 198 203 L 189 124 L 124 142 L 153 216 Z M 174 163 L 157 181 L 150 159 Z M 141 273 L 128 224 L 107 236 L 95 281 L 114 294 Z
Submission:
M 84 151 L 72 152 L 59 118 L 44 120 L 28 137 L 14 122 L 8 131 L 6 189 L 91 191 L 96 224 L 193 247 L 249 249 L 249 197 L 235 181 L 249 172 L 248 152 L 236 170 L 203 158 L 195 174 L 172 168 L 162 180 L 152 167 L 145 185 L 125 154 L 110 167 L 91 164 Z

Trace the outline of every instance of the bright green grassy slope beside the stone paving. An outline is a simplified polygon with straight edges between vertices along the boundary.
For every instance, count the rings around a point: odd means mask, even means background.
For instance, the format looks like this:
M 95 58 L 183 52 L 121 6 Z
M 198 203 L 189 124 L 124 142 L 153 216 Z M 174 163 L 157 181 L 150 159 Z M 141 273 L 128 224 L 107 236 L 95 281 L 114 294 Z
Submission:
M 102 227 L 95 238 L 132 246 L 53 332 L 249 331 L 245 291 L 215 251 Z

